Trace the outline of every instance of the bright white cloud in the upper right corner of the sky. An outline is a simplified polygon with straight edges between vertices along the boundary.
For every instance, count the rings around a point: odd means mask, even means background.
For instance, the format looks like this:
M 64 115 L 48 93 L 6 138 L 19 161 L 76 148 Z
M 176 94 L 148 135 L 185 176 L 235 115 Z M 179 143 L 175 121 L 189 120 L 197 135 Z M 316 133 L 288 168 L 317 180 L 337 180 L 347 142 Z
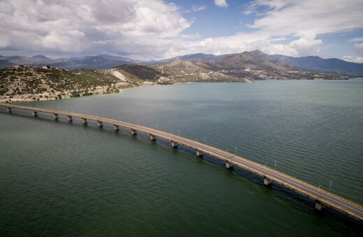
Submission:
M 251 25 L 253 29 L 276 35 L 313 31 L 325 34 L 363 27 L 361 0 L 256 0 L 250 8 L 265 7 L 262 17 Z M 251 9 L 250 9 L 251 10 Z

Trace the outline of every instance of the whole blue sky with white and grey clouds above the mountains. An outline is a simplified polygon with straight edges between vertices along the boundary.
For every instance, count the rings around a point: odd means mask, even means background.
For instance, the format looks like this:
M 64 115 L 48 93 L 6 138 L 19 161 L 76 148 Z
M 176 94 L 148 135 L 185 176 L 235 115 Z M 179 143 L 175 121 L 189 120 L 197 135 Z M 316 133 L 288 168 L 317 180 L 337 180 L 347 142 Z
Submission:
M 362 0 L 0 0 L 0 55 L 320 56 L 363 63 Z

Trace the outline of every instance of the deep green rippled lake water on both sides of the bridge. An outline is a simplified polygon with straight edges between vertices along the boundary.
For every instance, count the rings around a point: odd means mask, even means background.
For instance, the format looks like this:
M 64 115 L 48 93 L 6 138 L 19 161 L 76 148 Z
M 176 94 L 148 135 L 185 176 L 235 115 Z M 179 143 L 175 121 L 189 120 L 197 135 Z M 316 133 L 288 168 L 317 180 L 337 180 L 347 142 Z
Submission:
M 363 204 L 363 79 L 175 84 L 23 105 L 228 149 Z M 168 142 L 0 108 L 0 236 L 359 236 L 362 222 Z

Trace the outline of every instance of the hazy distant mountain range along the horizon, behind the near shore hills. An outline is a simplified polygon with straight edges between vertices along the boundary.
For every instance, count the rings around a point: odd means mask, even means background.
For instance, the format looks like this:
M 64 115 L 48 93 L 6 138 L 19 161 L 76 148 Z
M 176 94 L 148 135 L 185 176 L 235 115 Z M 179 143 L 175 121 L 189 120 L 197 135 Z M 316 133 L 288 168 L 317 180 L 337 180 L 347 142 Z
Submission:
M 228 70 L 229 75 L 238 77 L 251 75 L 251 71 L 264 70 L 276 76 L 294 70 L 325 72 L 348 77 L 362 77 L 363 63 L 352 63 L 340 59 L 322 59 L 318 56 L 292 57 L 279 54 L 268 55 L 259 50 L 244 52 L 242 54 L 187 54 L 163 59 L 159 61 L 140 61 L 122 56 L 102 54 L 98 56 L 84 56 L 71 59 L 49 59 L 43 55 L 27 56 L 0 56 L 0 68 L 13 65 L 52 66 L 56 68 L 75 69 L 109 69 L 124 64 L 144 64 L 145 66 L 160 66 L 172 61 L 189 61 L 206 70 Z M 165 70 L 168 67 L 164 67 Z M 279 72 L 279 73 L 274 73 Z M 255 75 L 255 74 L 254 74 Z M 261 78 L 262 79 L 262 78 Z

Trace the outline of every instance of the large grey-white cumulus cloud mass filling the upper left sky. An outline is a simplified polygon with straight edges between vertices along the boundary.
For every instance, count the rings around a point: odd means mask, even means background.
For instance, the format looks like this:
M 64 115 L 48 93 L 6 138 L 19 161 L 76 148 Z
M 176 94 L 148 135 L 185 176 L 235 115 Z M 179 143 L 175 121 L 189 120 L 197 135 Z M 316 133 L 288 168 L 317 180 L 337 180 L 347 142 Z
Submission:
M 0 50 L 141 54 L 190 25 L 179 7 L 162 0 L 4 0 Z

